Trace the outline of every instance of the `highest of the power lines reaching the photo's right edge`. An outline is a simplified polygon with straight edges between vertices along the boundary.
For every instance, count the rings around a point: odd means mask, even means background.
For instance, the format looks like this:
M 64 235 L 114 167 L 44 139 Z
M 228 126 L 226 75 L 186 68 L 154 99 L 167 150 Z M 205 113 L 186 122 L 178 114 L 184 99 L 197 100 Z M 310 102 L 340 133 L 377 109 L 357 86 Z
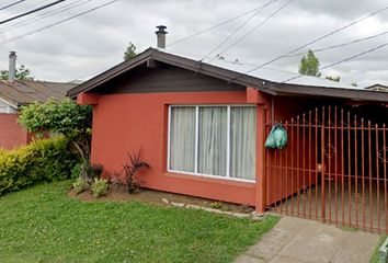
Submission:
M 290 50 L 290 52 L 288 52 L 288 53 L 286 53 L 286 54 L 284 54 L 284 55 L 281 55 L 281 56 L 278 56 L 278 57 L 276 57 L 276 58 L 274 58 L 274 59 L 271 59 L 270 61 L 264 62 L 264 64 L 262 64 L 262 65 L 260 65 L 260 66 L 258 66 L 258 67 L 255 67 L 255 68 L 253 68 L 253 69 L 251 69 L 251 70 L 249 70 L 249 71 L 247 71 L 247 73 L 250 73 L 250 72 L 252 72 L 252 71 L 255 71 L 255 70 L 261 69 L 262 67 L 265 67 L 265 66 L 267 66 L 267 65 L 270 65 L 270 64 L 272 64 L 272 62 L 274 62 L 274 61 L 277 61 L 277 60 L 282 59 L 282 58 L 285 58 L 285 57 L 287 57 L 288 55 L 290 55 L 290 54 L 293 54 L 293 53 L 295 53 L 295 52 L 298 52 L 298 50 L 300 50 L 300 49 L 303 49 L 303 48 L 305 48 L 305 47 L 307 47 L 307 46 L 310 46 L 310 45 L 312 45 L 312 44 L 315 44 L 315 43 L 317 43 L 317 42 L 319 42 L 319 41 L 322 41 L 323 38 L 327 38 L 327 37 L 329 37 L 329 36 L 334 35 L 335 33 L 339 33 L 339 32 L 341 32 L 341 31 L 343 31 L 343 30 L 346 30 L 346 28 L 349 28 L 349 27 L 351 27 L 351 26 L 353 26 L 353 25 L 355 25 L 355 24 L 357 24 L 357 23 L 360 23 L 360 22 L 362 22 L 362 21 L 364 21 L 364 20 L 366 20 L 366 19 L 369 19 L 369 18 L 372 18 L 372 16 L 378 14 L 378 13 L 381 13 L 381 12 L 386 11 L 387 9 L 388 9 L 388 5 L 384 7 L 383 9 L 379 9 L 379 10 L 377 10 L 377 11 L 375 11 L 375 12 L 373 12 L 373 13 L 366 15 L 366 16 L 363 16 L 363 18 L 361 18 L 361 19 L 358 19 L 358 20 L 355 20 L 355 21 L 353 21 L 353 22 L 351 22 L 351 23 L 349 23 L 349 24 L 346 24 L 346 25 L 344 25 L 344 26 L 341 26 L 340 28 L 338 28 L 338 30 L 335 30 L 335 31 L 332 31 L 332 32 L 330 32 L 330 33 L 328 33 L 328 34 L 326 34 L 326 35 L 323 35 L 323 36 L 320 36 L 320 37 L 318 37 L 318 38 L 316 38 L 316 39 L 313 39 L 313 41 L 311 41 L 311 42 L 308 42 L 307 44 L 305 44 L 305 45 L 303 45 L 303 46 L 299 46 L 299 47 L 297 47 L 297 48 L 295 48 L 295 49 L 293 49 L 293 50 Z M 238 78 L 238 77 L 237 77 L 237 78 Z

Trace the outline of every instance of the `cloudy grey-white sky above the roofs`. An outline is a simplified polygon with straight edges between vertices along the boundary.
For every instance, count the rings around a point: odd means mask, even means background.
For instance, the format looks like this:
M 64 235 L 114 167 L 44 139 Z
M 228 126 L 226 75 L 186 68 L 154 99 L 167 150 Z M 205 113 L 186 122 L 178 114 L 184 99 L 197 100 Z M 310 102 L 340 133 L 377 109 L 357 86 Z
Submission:
M 0 21 L 47 4 L 55 0 L 0 0 Z M 0 69 L 8 68 L 10 50 L 18 52 L 18 64 L 25 65 L 39 80 L 72 81 L 88 79 L 123 60 L 133 42 L 141 52 L 156 46 L 155 26 L 168 26 L 168 45 L 267 3 L 270 0 L 118 0 L 105 8 L 71 19 L 66 23 L 31 34 L 111 0 L 67 0 L 33 15 L 0 22 Z M 352 21 L 383 9 L 379 0 L 294 0 L 271 20 L 258 27 L 289 0 L 277 0 L 256 15 L 254 12 L 185 42 L 168 46 L 182 54 L 205 56 L 241 27 L 213 58 L 241 36 L 252 32 L 221 55 L 243 64 L 261 65 Z M 319 49 L 349 43 L 388 31 L 388 10 L 327 37 L 308 48 Z M 27 36 L 25 36 L 27 35 Z M 22 37 L 25 36 L 25 37 Z M 388 43 L 388 33 L 345 47 L 316 53 L 321 67 Z M 306 52 L 304 48 L 303 52 Z M 388 46 L 357 59 L 322 71 L 341 76 L 345 83 L 388 84 Z M 297 72 L 299 56 L 277 60 L 267 67 Z

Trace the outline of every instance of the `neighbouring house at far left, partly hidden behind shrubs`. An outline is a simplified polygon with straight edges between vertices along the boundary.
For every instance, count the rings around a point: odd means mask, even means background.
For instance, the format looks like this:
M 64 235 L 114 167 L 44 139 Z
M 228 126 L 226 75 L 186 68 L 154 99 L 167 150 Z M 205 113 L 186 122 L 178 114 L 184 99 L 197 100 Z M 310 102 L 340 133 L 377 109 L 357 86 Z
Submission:
M 48 99 L 65 99 L 66 92 L 76 87 L 72 83 L 15 80 L 15 53 L 10 54 L 10 75 L 0 80 L 0 148 L 12 149 L 28 144 L 32 135 L 19 123 L 22 105 L 45 102 Z

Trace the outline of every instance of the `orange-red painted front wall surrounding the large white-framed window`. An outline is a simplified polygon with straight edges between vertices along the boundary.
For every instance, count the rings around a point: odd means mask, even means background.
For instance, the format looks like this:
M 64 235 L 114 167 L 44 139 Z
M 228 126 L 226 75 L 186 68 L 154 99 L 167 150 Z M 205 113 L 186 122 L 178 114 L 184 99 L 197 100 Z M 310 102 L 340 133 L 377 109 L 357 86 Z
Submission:
M 78 101 L 82 103 L 82 98 Z M 258 184 L 167 172 L 168 106 L 246 104 L 246 91 L 109 94 L 93 101 L 92 162 L 103 164 L 107 172 L 119 171 L 127 161 L 127 152 L 141 149 L 142 159 L 151 165 L 141 174 L 145 187 L 261 205 Z M 258 106 L 259 121 L 262 110 Z M 263 134 L 262 126 L 259 130 L 259 135 Z M 263 148 L 258 147 L 256 151 L 258 158 L 262 158 Z M 262 163 L 256 170 L 256 181 L 262 180 Z

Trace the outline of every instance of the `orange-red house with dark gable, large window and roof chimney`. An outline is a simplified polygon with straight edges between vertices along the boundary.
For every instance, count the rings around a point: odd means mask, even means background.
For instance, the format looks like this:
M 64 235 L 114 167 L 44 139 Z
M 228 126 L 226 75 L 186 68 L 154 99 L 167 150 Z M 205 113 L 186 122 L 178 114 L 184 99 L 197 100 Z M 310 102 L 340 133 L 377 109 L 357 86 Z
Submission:
M 260 213 L 298 198 L 293 213 L 304 217 L 317 213 L 317 219 L 326 221 L 329 215 L 321 206 L 329 198 L 323 195 L 328 183 L 343 186 L 340 179 L 347 174 L 349 183 L 356 170 L 360 186 L 362 175 L 384 171 L 383 164 L 373 167 L 376 151 L 380 146 L 386 149 L 386 130 L 376 129 L 375 123 L 387 119 L 388 93 L 271 68 L 250 71 L 252 66 L 220 59 L 198 61 L 162 48 L 163 30 L 157 32 L 159 48 L 149 48 L 68 92 L 78 103 L 93 105 L 92 162 L 109 172 L 119 171 L 127 152 L 141 149 L 151 165 L 141 174 L 145 187 L 251 205 Z M 373 127 L 352 126 L 369 118 Z M 265 150 L 266 135 L 276 122 L 287 129 L 288 146 Z M 365 141 L 360 137 L 370 133 Z M 369 150 L 361 153 L 362 144 Z M 370 155 L 369 161 L 365 155 Z M 365 164 L 364 174 L 354 168 L 360 163 Z M 379 180 L 387 183 L 384 173 Z M 334 186 L 331 190 L 334 193 Z M 304 193 L 323 199 L 301 199 Z M 301 214 L 303 204 L 309 214 Z

